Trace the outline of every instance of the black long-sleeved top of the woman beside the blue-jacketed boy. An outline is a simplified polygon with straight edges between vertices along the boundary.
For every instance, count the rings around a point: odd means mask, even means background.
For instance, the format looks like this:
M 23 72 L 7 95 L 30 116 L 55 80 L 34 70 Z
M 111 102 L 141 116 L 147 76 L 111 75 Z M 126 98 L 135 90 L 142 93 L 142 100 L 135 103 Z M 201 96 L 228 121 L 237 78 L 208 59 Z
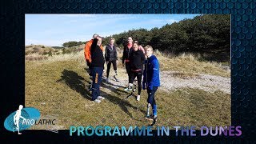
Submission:
M 132 71 L 143 70 L 143 64 L 145 62 L 145 56 L 142 50 L 132 52 L 130 55 L 130 67 Z

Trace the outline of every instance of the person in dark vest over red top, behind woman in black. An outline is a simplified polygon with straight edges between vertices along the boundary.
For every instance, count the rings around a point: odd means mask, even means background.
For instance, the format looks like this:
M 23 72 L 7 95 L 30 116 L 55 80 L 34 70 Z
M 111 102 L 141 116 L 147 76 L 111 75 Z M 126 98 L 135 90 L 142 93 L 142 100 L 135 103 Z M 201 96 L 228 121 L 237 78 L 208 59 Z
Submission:
M 127 39 L 126 44 L 123 48 L 123 54 L 122 54 L 122 66 L 126 66 L 126 73 L 128 74 L 128 79 L 130 79 L 130 54 L 133 51 L 133 38 L 129 37 Z M 130 85 L 130 84 L 129 84 Z M 131 91 L 131 89 L 129 89 Z

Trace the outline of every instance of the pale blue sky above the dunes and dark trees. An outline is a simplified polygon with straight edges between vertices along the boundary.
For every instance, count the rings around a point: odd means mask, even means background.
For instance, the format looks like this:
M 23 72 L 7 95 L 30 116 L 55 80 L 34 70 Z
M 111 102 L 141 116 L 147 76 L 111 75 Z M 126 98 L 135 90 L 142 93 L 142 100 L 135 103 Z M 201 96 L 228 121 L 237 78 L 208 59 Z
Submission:
M 124 31 L 162 27 L 198 14 L 26 14 L 26 45 L 62 46 L 69 41 L 89 40 Z

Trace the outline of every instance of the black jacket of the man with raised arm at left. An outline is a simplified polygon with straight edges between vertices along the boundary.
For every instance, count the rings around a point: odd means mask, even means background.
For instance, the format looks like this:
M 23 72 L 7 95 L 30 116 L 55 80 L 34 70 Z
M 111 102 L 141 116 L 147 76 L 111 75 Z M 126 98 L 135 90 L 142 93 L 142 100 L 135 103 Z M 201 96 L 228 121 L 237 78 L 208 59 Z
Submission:
M 102 49 L 97 45 L 98 39 L 94 38 L 94 42 L 90 46 L 91 66 L 104 67 L 104 56 Z

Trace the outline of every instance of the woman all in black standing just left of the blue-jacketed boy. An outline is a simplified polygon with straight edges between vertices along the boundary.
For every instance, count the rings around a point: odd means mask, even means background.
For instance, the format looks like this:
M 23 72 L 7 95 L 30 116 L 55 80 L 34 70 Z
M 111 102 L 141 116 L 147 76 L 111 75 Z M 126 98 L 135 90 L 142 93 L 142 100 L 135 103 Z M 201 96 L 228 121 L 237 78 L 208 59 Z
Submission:
M 133 86 L 134 79 L 137 77 L 138 82 L 138 95 L 137 101 L 140 100 L 142 92 L 142 74 L 143 74 L 143 64 L 145 62 L 145 56 L 142 50 L 138 50 L 138 42 L 134 42 L 134 51 L 130 55 L 130 79 L 129 86 L 126 90 L 131 90 Z

